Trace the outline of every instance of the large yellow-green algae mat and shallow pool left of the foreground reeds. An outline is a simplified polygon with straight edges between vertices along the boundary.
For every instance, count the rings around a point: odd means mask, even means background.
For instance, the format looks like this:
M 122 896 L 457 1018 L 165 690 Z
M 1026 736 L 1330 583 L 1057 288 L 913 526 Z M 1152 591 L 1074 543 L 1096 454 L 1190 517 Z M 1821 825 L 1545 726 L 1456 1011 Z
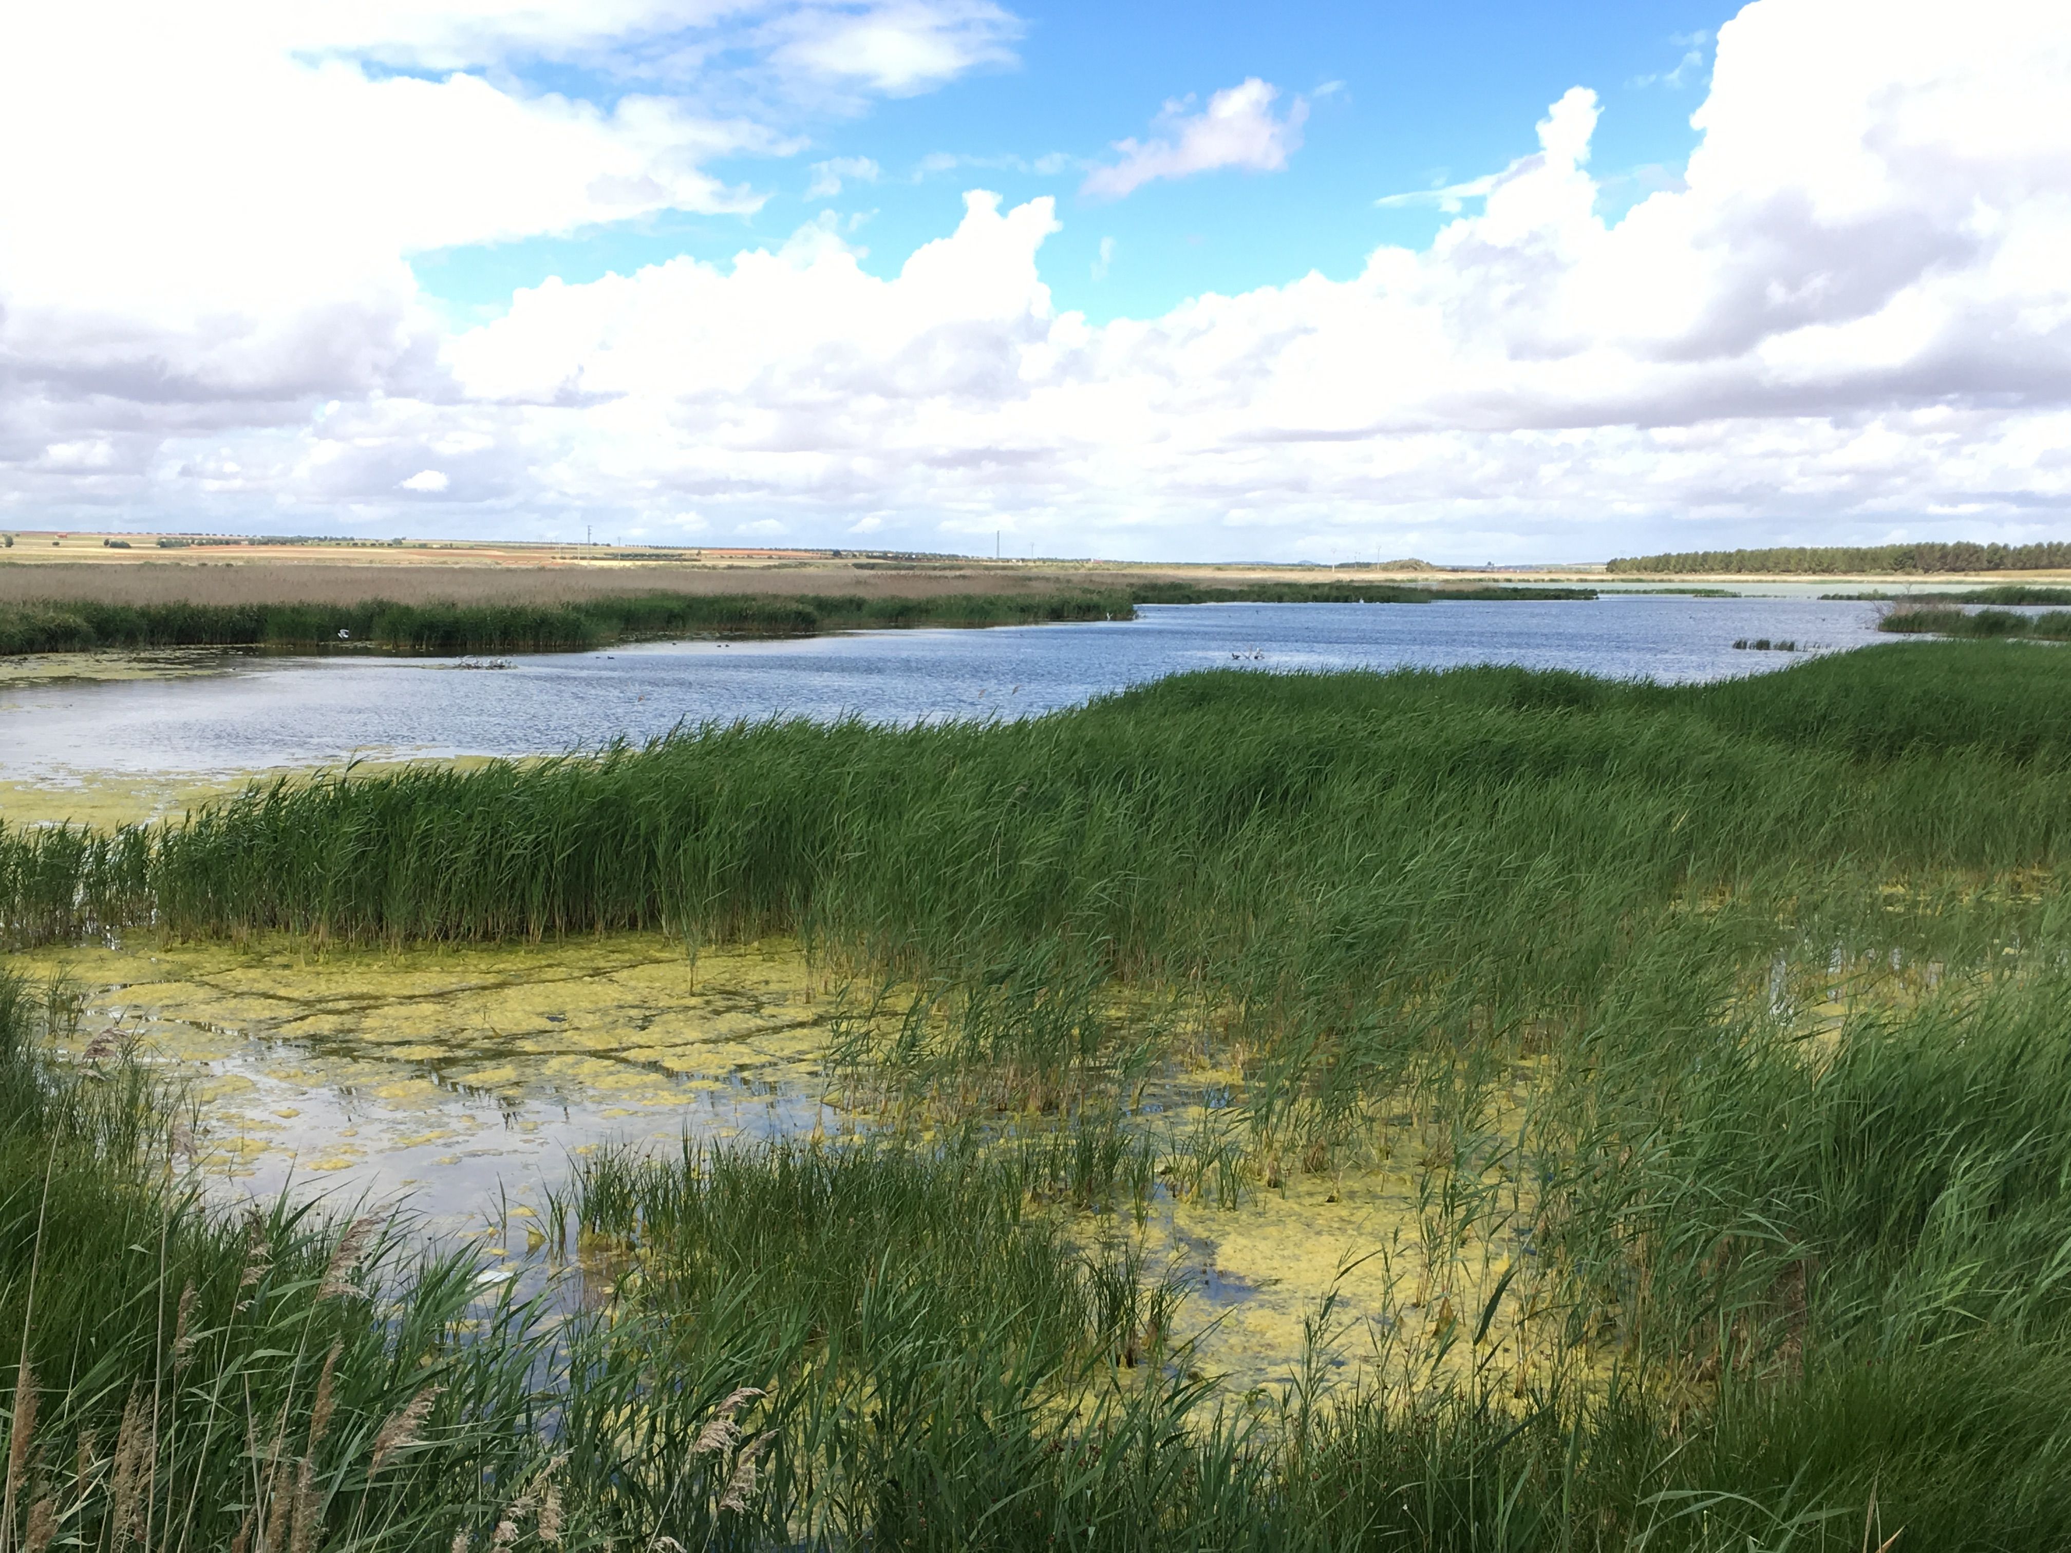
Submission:
M 789 946 L 648 936 L 526 948 L 66 946 L 12 957 L 174 1066 L 205 1174 L 329 1178 L 478 1213 L 603 1139 L 812 1126 L 822 1037 Z

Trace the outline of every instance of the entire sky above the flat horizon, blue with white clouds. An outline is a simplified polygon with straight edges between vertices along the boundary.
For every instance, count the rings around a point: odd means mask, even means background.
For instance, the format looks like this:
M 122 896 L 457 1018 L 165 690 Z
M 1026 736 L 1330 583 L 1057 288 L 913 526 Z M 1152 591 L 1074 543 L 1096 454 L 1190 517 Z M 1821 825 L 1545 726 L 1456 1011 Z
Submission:
M 2071 538 L 2071 6 L 0 14 L 0 526 Z

